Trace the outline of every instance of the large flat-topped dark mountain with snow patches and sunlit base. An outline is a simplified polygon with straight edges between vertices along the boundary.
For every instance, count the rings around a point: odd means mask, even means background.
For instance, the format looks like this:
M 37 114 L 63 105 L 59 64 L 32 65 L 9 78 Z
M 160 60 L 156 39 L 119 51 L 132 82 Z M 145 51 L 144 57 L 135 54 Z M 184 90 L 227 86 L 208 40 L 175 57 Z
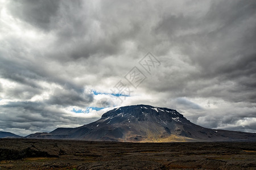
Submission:
M 131 105 L 102 114 L 78 128 L 57 128 L 27 138 L 120 142 L 256 141 L 255 133 L 216 130 L 195 125 L 174 109 Z

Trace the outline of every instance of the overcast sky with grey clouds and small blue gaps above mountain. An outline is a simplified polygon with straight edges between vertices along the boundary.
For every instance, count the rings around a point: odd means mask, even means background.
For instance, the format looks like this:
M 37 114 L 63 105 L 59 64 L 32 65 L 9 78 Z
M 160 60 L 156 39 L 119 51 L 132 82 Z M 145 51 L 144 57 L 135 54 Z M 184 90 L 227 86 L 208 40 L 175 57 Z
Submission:
M 77 127 L 108 107 L 148 104 L 256 133 L 255 9 L 254 0 L 1 0 L 0 131 Z

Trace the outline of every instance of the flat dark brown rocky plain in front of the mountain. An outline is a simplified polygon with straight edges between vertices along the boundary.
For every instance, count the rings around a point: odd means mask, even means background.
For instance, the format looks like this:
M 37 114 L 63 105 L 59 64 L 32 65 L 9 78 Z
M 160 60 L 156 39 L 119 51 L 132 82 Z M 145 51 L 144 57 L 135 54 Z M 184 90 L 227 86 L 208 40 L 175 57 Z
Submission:
M 0 139 L 0 169 L 256 169 L 256 142 Z

